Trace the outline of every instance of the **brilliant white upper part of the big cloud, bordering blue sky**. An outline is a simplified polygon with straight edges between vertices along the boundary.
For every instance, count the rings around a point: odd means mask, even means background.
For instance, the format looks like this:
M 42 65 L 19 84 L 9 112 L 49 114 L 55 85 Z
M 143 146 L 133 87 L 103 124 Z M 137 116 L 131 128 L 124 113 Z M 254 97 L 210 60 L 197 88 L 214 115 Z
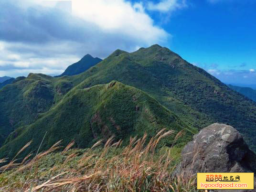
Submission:
M 149 44 L 167 37 L 167 32 L 154 25 L 141 4 L 125 0 L 73 0 L 73 13 L 93 22 L 104 31 L 139 38 Z

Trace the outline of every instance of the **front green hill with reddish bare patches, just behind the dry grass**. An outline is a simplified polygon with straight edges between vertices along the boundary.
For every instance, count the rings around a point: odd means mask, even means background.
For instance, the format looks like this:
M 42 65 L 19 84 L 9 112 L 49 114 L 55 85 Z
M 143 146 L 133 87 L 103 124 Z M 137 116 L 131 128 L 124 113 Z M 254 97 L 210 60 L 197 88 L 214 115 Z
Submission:
M 130 136 L 142 137 L 146 131 L 153 137 L 162 128 L 175 130 L 176 134 L 184 129 L 180 145 L 192 137 L 192 130 L 179 117 L 137 88 L 116 81 L 90 88 L 75 87 L 37 121 L 11 133 L 0 148 L 0 158 L 12 157 L 31 139 L 24 155 L 38 149 L 46 132 L 41 149 L 48 149 L 61 139 L 64 145 L 75 139 L 76 147 L 85 148 L 113 134 L 128 143 Z M 176 134 L 162 139 L 161 145 L 171 146 Z

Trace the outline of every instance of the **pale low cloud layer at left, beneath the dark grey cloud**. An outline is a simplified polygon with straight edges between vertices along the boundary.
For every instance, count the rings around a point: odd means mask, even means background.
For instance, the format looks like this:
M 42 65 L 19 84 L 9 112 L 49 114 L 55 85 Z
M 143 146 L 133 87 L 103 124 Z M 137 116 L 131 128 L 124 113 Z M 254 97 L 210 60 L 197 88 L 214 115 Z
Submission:
M 61 43 L 55 46 L 47 44 L 48 46 L 46 47 L 22 45 L 22 43 L 0 42 L 0 44 L 4 47 L 0 54 L 0 76 L 8 75 L 17 77 L 26 76 L 29 73 L 59 75 L 68 65 L 81 59 L 75 54 L 66 54 L 68 52 L 72 53 L 70 49 L 61 49 L 61 52 L 58 53 L 57 50 L 60 49 L 60 47 L 67 48 L 71 43 Z M 11 51 L 9 49 L 11 49 Z M 16 49 L 18 51 L 20 49 L 28 49 L 28 51 L 21 54 L 12 54 L 13 52 L 18 52 Z M 30 51 L 30 49 L 32 49 L 34 53 Z M 47 53 L 49 56 L 42 55 Z

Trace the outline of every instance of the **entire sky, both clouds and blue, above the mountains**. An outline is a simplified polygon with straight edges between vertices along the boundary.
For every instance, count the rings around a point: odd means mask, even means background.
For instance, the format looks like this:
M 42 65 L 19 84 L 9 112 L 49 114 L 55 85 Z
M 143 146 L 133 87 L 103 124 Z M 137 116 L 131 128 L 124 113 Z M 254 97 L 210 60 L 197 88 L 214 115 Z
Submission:
M 225 83 L 256 84 L 255 0 L 1 0 L 0 7 L 0 76 L 56 75 L 86 53 L 104 58 L 158 43 Z

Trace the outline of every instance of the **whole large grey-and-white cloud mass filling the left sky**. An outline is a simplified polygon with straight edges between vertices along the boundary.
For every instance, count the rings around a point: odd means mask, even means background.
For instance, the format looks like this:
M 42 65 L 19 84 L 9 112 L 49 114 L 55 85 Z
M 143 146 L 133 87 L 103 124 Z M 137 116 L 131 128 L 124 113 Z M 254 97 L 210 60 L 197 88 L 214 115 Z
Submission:
M 126 0 L 1 0 L 0 7 L 0 75 L 60 74 L 86 53 L 104 58 L 171 37 L 141 3 Z

